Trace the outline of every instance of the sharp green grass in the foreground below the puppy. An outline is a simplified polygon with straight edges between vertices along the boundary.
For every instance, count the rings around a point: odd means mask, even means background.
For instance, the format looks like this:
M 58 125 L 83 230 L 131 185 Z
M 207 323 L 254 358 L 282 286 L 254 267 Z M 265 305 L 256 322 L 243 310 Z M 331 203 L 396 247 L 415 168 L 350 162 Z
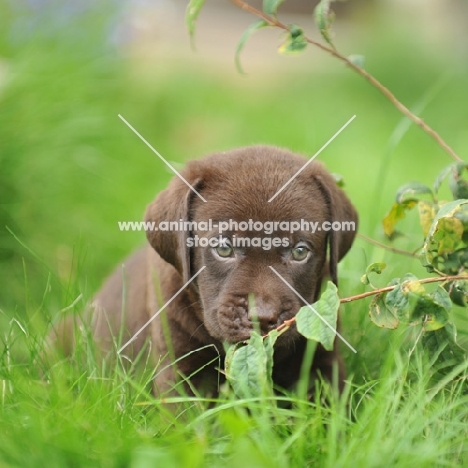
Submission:
M 7 344 L 29 341 L 12 324 Z M 30 346 L 19 365 L 2 356 L 1 466 L 465 466 L 468 395 L 459 379 L 430 379 L 423 354 L 411 363 L 392 337 L 381 377 L 350 385 L 328 403 L 293 395 L 216 400 L 160 400 L 149 373 L 132 377 L 120 365 L 93 363 L 92 347 L 38 379 Z M 86 361 L 86 365 L 77 364 Z M 28 362 L 29 361 L 29 362 Z M 31 373 L 33 375 L 31 375 Z M 178 403 L 174 413 L 168 403 Z M 288 409 L 285 408 L 285 403 Z M 282 409 L 283 408 L 283 409 Z

